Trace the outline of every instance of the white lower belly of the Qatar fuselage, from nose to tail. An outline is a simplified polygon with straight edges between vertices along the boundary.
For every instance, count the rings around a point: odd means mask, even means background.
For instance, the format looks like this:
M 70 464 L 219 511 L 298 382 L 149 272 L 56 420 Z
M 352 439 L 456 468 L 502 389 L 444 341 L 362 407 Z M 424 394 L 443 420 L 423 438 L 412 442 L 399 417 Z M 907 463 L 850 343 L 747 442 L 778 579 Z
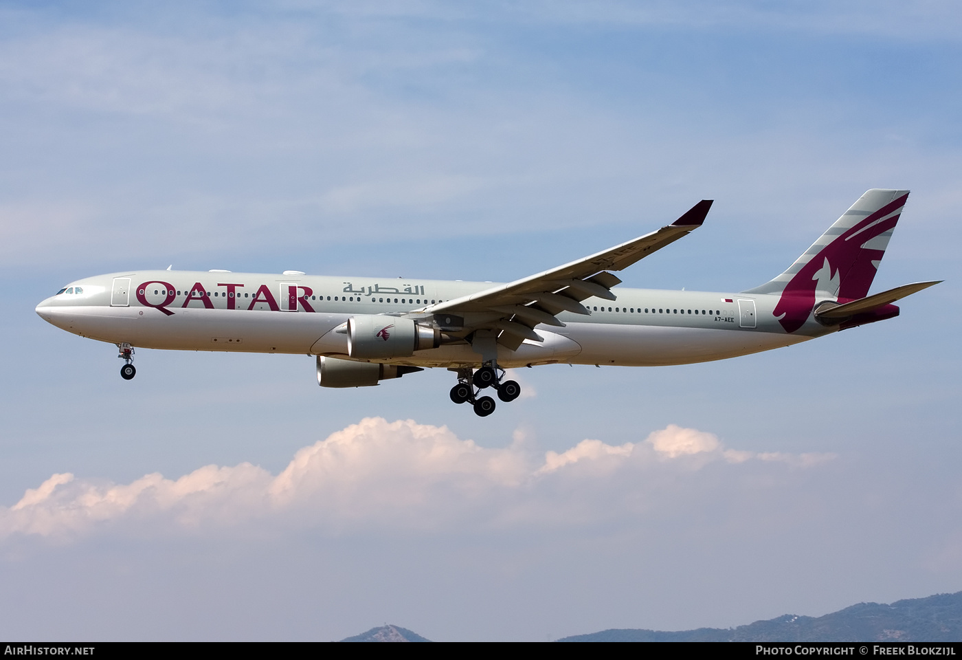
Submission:
M 153 308 L 61 307 L 50 321 L 64 330 L 141 348 L 233 350 L 343 355 L 346 335 L 334 333 L 349 315 L 241 310 L 179 309 L 171 316 Z M 646 367 L 681 365 L 747 355 L 803 342 L 781 333 L 635 324 L 572 323 L 539 328 L 544 343 L 525 341 L 517 350 L 498 346 L 507 367 L 575 363 Z M 467 343 L 417 351 L 387 363 L 419 367 L 468 367 L 481 357 Z

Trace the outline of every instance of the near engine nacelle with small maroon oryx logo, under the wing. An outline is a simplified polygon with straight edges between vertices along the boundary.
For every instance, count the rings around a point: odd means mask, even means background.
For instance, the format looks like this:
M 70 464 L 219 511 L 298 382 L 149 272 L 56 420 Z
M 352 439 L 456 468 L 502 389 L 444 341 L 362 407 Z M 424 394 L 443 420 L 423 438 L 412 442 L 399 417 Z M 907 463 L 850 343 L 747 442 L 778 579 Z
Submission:
M 347 354 L 352 358 L 406 358 L 441 345 L 441 331 L 411 318 L 362 315 L 347 319 Z

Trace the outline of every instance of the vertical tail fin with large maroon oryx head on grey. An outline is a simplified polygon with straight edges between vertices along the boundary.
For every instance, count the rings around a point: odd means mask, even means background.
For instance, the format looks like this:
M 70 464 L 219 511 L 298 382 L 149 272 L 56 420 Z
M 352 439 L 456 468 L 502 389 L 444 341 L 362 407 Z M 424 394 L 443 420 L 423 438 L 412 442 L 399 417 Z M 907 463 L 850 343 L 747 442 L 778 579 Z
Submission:
M 774 314 L 786 332 L 804 324 L 816 298 L 865 297 L 907 198 L 908 190 L 868 190 L 791 267 L 746 293 L 781 293 Z

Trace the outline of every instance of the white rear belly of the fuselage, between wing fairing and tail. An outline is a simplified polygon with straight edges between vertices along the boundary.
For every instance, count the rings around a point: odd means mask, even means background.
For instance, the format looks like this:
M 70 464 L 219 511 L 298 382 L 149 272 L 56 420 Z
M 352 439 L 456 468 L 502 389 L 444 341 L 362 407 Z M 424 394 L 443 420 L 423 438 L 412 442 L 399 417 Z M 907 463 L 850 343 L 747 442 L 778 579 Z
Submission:
M 624 367 L 709 362 L 810 339 L 734 329 L 603 323 L 569 323 L 562 332 L 582 346 L 581 354 L 573 362 Z

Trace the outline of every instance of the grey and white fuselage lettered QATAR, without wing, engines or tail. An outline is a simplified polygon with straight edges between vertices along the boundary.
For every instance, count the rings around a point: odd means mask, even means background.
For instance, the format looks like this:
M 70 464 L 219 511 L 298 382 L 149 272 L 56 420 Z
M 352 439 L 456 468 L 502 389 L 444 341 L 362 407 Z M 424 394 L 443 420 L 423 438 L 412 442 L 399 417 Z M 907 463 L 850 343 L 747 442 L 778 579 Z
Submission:
M 78 280 L 38 305 L 38 315 L 82 337 L 143 348 L 303 353 L 347 357 L 336 330 L 356 315 L 410 314 L 491 288 L 490 282 L 150 270 Z M 72 292 L 80 288 L 81 292 Z M 563 312 L 565 327 L 539 325 L 538 343 L 498 347 L 505 368 L 551 363 L 646 367 L 747 355 L 834 328 L 810 318 L 788 334 L 772 315 L 777 296 L 617 288 L 616 301 L 583 301 L 591 316 Z M 377 362 L 467 368 L 467 342 Z

